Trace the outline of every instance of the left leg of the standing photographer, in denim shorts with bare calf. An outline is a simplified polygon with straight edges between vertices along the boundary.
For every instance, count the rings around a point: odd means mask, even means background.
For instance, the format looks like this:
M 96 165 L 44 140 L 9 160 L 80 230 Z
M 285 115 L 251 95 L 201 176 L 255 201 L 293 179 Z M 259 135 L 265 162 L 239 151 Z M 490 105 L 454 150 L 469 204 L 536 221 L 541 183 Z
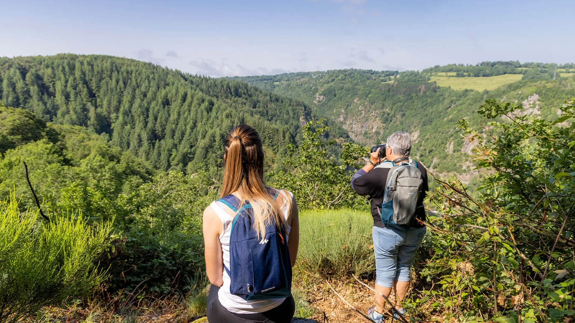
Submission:
M 375 290 L 389 297 L 396 276 L 398 243 L 403 239 L 393 230 L 377 226 L 373 227 L 372 236 L 375 252 Z M 385 300 L 379 293 L 375 293 L 375 311 L 382 314 Z

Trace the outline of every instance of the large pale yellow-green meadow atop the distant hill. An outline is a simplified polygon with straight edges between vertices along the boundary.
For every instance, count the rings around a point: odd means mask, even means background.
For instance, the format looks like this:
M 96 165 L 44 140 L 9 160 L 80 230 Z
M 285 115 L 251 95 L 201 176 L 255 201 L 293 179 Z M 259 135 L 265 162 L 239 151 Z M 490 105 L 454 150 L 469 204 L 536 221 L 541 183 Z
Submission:
M 522 74 L 455 78 L 453 76 L 439 75 L 438 73 L 438 75 L 431 76 L 431 81 L 436 82 L 439 86 L 451 87 L 453 90 L 470 89 L 483 91 L 495 90 L 502 85 L 516 82 L 522 78 Z

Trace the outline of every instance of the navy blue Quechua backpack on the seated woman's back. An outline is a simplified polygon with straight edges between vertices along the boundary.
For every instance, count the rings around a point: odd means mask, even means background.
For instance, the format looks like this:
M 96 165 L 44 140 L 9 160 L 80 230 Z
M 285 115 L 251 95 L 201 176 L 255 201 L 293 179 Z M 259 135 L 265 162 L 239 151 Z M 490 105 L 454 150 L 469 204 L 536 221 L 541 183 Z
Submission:
M 274 200 L 277 197 L 276 191 Z M 266 227 L 265 236 L 258 239 L 250 203 L 246 201 L 239 208 L 240 199 L 235 195 L 218 201 L 237 213 L 229 236 L 230 268 L 224 266 L 231 280 L 229 292 L 247 301 L 289 297 L 292 294 L 292 262 L 284 230 L 278 230 L 271 223 Z

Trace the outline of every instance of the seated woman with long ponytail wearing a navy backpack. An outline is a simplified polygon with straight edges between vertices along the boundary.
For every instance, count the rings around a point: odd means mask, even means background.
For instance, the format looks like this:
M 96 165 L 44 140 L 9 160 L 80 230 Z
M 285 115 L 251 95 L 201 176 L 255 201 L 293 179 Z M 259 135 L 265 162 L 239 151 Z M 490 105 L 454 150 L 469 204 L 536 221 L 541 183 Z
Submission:
M 293 194 L 263 181 L 264 153 L 248 125 L 225 140 L 220 199 L 204 210 L 210 322 L 290 322 L 299 224 Z

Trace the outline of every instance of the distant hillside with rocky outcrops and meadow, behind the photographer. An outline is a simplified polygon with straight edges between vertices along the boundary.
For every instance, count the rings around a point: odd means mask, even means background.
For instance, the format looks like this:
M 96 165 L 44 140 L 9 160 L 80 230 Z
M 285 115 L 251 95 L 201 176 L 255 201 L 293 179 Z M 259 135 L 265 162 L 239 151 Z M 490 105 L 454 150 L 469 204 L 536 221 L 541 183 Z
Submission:
M 478 125 L 482 119 L 474 111 L 490 98 L 516 102 L 524 107 L 523 114 L 557 117 L 562 100 L 575 94 L 569 68 L 573 66 L 484 62 L 422 72 L 335 70 L 235 79 L 304 101 L 317 113 L 341 122 L 361 144 L 385 141 L 394 131 L 405 130 L 412 134 L 413 154 L 425 165 L 438 172 L 461 173 L 470 169 L 465 161 L 471 145 L 461 139 L 458 119 Z M 484 90 L 492 78 L 515 74 L 518 78 L 496 79 L 500 86 Z M 475 82 L 469 89 L 450 87 L 469 80 Z

